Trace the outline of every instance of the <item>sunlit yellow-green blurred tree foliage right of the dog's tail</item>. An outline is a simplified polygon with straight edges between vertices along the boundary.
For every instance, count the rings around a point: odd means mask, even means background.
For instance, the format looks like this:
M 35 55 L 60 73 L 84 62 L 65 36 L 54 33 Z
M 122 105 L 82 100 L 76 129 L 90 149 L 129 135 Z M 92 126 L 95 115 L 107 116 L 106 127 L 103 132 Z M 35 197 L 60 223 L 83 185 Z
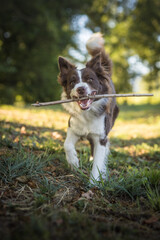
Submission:
M 94 0 L 88 16 L 88 27 L 106 36 L 116 89 L 128 91 L 130 80 L 140 74 L 129 66 L 128 59 L 135 55 L 149 68 L 144 76 L 148 88 L 160 88 L 160 1 Z

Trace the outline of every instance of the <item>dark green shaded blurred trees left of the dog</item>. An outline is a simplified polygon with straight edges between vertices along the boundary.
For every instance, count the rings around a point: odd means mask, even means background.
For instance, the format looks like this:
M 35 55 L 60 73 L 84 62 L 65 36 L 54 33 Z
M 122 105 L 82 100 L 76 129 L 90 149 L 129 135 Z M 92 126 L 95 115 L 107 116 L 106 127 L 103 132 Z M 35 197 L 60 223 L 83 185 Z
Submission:
M 73 45 L 70 25 L 84 0 L 0 1 L 0 101 L 59 97 L 57 56 Z

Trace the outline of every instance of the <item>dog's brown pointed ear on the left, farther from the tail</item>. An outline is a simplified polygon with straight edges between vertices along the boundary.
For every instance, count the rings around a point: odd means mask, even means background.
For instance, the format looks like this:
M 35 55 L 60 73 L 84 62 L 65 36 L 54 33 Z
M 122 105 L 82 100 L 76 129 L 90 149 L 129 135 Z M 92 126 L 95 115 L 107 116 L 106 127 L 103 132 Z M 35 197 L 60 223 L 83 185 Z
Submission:
M 59 70 L 60 70 L 58 82 L 65 87 L 67 84 L 68 72 L 76 67 L 63 57 L 59 57 L 58 63 L 59 63 Z

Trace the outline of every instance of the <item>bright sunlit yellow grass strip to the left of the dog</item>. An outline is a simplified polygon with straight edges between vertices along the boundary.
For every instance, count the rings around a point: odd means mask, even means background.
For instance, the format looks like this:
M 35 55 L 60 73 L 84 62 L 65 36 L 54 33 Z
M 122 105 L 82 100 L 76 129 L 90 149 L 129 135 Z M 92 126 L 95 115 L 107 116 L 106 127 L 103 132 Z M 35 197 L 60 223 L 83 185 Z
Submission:
M 0 120 L 25 124 L 34 127 L 49 127 L 65 130 L 68 123 L 68 115 L 61 108 L 33 107 L 19 108 L 13 106 L 0 107 Z

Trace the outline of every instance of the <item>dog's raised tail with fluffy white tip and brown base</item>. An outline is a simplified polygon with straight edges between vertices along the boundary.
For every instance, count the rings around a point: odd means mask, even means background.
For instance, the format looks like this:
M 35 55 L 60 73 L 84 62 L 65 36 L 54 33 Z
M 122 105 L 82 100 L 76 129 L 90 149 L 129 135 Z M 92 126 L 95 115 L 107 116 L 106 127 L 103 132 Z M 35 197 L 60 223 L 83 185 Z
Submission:
M 101 54 L 102 65 L 107 71 L 107 73 L 112 75 L 112 61 L 110 60 L 108 54 L 106 54 L 104 49 L 104 38 L 102 33 L 94 33 L 86 43 L 86 48 L 89 54 L 94 57 L 97 54 Z

